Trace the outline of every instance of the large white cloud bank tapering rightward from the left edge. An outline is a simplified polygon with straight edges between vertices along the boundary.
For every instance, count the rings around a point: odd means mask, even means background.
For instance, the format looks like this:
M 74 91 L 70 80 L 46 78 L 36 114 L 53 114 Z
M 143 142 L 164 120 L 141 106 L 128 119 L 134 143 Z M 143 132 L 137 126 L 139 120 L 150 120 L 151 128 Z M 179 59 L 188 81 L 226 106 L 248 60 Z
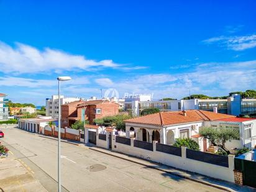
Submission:
M 42 73 L 71 70 L 98 70 L 109 67 L 116 69 L 141 69 L 144 66 L 129 68 L 124 65 L 114 63 L 112 60 L 89 60 L 83 55 L 71 55 L 61 50 L 45 48 L 39 50 L 30 45 L 16 43 L 12 48 L 6 43 L 0 42 L 0 67 L 3 73 Z

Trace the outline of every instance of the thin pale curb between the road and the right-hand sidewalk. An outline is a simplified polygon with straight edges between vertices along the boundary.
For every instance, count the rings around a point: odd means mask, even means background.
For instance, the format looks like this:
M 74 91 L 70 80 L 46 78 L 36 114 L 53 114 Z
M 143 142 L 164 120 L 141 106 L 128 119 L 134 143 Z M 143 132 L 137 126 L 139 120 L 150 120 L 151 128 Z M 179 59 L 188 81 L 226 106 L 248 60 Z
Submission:
M 203 185 L 211 186 L 211 187 L 217 188 L 217 189 L 219 189 L 219 190 L 230 191 L 230 192 L 234 192 L 234 191 L 235 191 L 235 190 L 232 190 L 232 189 L 227 188 L 227 187 L 224 187 L 224 186 L 215 185 L 215 184 L 212 184 L 212 183 L 208 183 L 208 182 L 206 182 L 206 181 L 196 180 L 196 179 L 191 178 L 191 177 L 189 177 L 189 176 L 181 175 L 181 174 L 179 174 L 179 173 L 173 173 L 173 172 L 171 172 L 171 171 L 163 170 L 162 168 L 157 168 L 157 167 L 154 167 L 154 166 L 147 165 L 147 164 L 145 164 L 145 163 L 140 163 L 140 162 L 137 162 L 137 161 L 135 161 L 135 160 L 130 160 L 129 158 L 120 157 L 120 156 L 118 156 L 118 155 L 114 155 L 114 154 L 111 154 L 111 153 L 107 153 L 107 152 L 104 152 L 104 151 L 102 151 L 102 150 L 97 150 L 97 149 L 92 148 L 92 147 L 89 147 L 89 149 L 94 150 L 94 151 L 97 151 L 97 152 L 105 153 L 105 154 L 107 154 L 107 155 L 111 155 L 112 157 L 121 158 L 121 159 L 127 160 L 127 161 L 129 161 L 129 162 L 137 163 L 137 164 L 139 164 L 139 165 L 144 165 L 145 167 L 154 168 L 155 170 L 163 171 L 163 172 L 165 172 L 165 173 L 169 173 L 169 174 L 171 174 L 171 175 L 179 176 L 179 177 L 185 178 L 185 179 L 187 179 L 187 180 L 195 181 L 195 182 L 201 183 L 201 184 L 203 184 Z M 118 153 L 118 152 L 115 152 L 115 153 Z M 138 158 L 138 157 L 135 157 L 135 158 Z M 139 159 L 140 159 L 140 158 L 139 158 Z M 144 159 L 141 159 L 141 160 L 144 160 Z

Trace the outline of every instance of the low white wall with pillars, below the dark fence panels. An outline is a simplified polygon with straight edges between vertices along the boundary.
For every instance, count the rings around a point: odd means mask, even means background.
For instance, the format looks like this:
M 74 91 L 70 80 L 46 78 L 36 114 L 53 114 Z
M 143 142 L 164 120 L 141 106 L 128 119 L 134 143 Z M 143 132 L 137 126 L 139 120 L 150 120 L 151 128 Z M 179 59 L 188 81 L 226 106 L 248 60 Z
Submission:
M 137 147 L 133 147 L 134 140 L 131 139 L 131 146 L 116 143 L 116 138 L 112 139 L 112 150 L 126 153 L 128 155 L 134 155 L 135 157 L 145 158 L 152 160 L 153 162 L 163 163 L 171 167 L 180 168 L 182 170 L 193 171 L 202 175 L 211 176 L 213 178 L 226 180 L 234 183 L 234 157 L 232 161 L 229 160 L 229 168 L 213 165 L 210 163 L 199 162 L 186 158 L 186 150 L 183 149 L 183 157 L 176 155 L 170 155 L 167 153 L 144 150 Z M 97 144 L 98 145 L 98 144 Z M 155 147 L 153 147 L 155 149 Z M 184 154 L 185 153 L 185 154 Z

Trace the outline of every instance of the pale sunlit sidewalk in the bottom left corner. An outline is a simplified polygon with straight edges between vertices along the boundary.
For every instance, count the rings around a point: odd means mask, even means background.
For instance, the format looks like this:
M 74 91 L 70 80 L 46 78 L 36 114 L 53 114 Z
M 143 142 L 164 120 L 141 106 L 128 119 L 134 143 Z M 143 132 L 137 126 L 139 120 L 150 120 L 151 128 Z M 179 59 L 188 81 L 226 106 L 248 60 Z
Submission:
M 0 158 L 0 191 L 47 191 L 33 175 L 33 171 L 12 152 Z

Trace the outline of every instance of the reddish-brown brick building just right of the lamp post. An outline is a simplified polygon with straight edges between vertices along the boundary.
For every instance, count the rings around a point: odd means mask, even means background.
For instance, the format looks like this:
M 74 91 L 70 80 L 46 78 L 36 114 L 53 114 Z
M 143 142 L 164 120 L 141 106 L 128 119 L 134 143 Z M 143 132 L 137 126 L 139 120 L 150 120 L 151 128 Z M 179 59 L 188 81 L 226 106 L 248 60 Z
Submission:
M 75 101 L 62 105 L 62 127 L 70 127 L 76 121 L 114 116 L 119 113 L 119 104 L 109 100 Z

